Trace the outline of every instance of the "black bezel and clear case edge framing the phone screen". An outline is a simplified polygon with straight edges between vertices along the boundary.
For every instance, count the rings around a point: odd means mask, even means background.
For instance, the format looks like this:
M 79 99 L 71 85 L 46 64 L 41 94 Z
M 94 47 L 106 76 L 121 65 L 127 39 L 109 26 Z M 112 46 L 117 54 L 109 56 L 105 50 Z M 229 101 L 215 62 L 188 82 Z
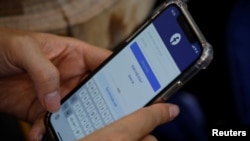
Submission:
M 188 80 L 190 80 L 192 77 L 195 76 L 200 70 L 206 69 L 207 66 L 211 63 L 213 59 L 213 49 L 212 46 L 206 41 L 204 38 L 202 32 L 196 25 L 195 21 L 193 20 L 191 14 L 189 13 L 187 9 L 187 4 L 182 2 L 181 0 L 171 0 L 163 3 L 157 10 L 152 14 L 152 16 L 139 28 L 137 29 L 134 34 L 132 34 L 127 40 L 125 40 L 120 46 L 114 51 L 114 53 L 108 57 L 100 66 L 97 67 L 97 69 L 89 76 L 87 76 L 83 82 L 81 82 L 77 87 L 75 87 L 67 96 L 65 96 L 61 103 L 63 103 L 65 100 L 67 100 L 72 94 L 74 94 L 82 85 L 84 85 L 98 70 L 100 70 L 107 62 L 109 62 L 116 54 L 118 54 L 131 40 L 133 40 L 140 32 L 143 31 L 144 28 L 147 27 L 155 18 L 157 18 L 162 11 L 164 11 L 168 6 L 175 5 L 179 8 L 179 10 L 182 12 L 184 17 L 186 18 L 187 22 L 189 23 L 190 27 L 194 31 L 195 35 L 197 36 L 201 47 L 202 47 L 202 54 L 200 58 L 194 62 L 190 67 L 188 67 L 186 70 L 183 71 L 181 75 L 179 75 L 173 82 L 171 82 L 167 87 L 165 87 L 155 98 L 153 98 L 151 101 L 149 101 L 145 106 L 148 106 L 152 103 L 156 102 L 162 102 L 167 100 L 174 92 L 179 90 Z M 50 116 L 52 113 L 47 112 L 46 116 L 44 118 L 46 128 L 49 131 L 49 134 L 52 138 L 55 140 L 58 140 L 56 133 L 54 129 L 52 128 L 51 122 L 50 122 Z

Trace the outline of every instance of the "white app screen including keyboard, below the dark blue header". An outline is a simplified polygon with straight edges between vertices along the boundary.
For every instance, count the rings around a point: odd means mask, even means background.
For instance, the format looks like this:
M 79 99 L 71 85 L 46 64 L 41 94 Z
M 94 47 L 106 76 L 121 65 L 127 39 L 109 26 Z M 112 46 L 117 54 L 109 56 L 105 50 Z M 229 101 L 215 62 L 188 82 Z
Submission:
M 52 115 L 59 137 L 80 139 L 147 104 L 180 70 L 149 25 Z M 69 128 L 64 128 L 69 126 Z

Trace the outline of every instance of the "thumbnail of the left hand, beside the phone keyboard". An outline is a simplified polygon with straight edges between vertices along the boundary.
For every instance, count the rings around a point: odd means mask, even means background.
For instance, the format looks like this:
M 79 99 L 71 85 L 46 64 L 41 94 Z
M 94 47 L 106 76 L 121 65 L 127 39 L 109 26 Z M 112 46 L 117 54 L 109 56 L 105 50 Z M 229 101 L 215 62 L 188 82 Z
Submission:
M 54 112 L 57 111 L 60 107 L 61 96 L 58 91 L 54 91 L 45 95 L 45 106 L 48 111 Z

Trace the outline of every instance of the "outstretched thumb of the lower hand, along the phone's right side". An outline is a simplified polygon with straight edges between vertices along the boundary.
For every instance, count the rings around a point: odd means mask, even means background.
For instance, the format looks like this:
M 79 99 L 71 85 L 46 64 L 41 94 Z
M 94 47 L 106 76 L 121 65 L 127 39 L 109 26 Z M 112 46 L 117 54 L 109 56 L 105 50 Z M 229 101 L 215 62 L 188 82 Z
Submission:
M 152 132 L 156 126 L 174 119 L 178 113 L 179 108 L 176 105 L 154 104 L 120 120 L 116 128 L 118 131 L 125 132 L 131 140 L 139 140 L 142 136 Z

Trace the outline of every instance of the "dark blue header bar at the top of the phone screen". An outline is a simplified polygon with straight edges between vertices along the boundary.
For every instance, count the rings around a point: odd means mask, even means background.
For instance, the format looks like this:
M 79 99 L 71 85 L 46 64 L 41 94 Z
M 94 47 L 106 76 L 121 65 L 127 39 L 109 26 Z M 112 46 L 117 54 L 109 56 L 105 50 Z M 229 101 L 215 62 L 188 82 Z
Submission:
M 156 18 L 153 24 L 177 66 L 183 71 L 190 65 L 190 62 L 193 62 L 200 56 L 201 47 L 198 42 L 190 43 L 185 36 L 185 33 L 177 20 L 177 17 L 180 14 L 181 13 L 176 6 L 171 6 L 166 12 L 163 12 L 158 18 Z M 172 45 L 170 43 L 170 38 L 175 33 L 181 35 L 181 41 L 177 45 Z M 192 47 L 195 47 L 196 50 Z M 196 51 L 198 51 L 198 53 L 196 53 Z

